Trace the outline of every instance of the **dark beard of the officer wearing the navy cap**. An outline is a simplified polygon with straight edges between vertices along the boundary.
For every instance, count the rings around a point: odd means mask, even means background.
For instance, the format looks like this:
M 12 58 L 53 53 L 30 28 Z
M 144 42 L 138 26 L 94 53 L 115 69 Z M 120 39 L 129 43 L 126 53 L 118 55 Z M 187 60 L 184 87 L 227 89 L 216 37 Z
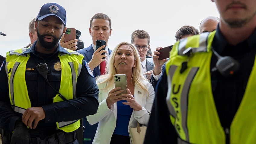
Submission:
M 53 37 L 53 42 L 44 41 L 43 39 L 44 39 L 45 36 Z M 62 37 L 62 35 L 59 38 L 55 37 L 52 34 L 40 35 L 38 30 L 37 30 L 37 40 L 39 40 L 40 45 L 43 46 L 47 50 L 55 49 L 58 46 L 59 40 L 61 39 L 61 37 Z

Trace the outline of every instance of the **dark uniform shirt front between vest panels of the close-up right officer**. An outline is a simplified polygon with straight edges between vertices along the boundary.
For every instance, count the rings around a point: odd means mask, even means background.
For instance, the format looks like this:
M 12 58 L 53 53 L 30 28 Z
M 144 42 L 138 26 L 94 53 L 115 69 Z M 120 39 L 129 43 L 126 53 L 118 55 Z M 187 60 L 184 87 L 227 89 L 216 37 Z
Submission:
M 217 28 L 212 47 L 220 56 L 231 56 L 240 64 L 238 73 L 225 78 L 215 71 L 211 73 L 213 97 L 219 115 L 220 123 L 224 129 L 230 127 L 235 113 L 242 101 L 245 88 L 251 73 L 256 53 L 256 30 L 245 41 L 236 46 L 228 44 Z M 212 56 L 211 69 L 217 62 Z

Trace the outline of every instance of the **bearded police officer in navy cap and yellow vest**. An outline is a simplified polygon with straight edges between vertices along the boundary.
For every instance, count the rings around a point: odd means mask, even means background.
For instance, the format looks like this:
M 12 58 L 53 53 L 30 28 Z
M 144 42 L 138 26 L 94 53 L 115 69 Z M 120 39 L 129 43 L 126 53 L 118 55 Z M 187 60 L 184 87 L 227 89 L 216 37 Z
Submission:
M 0 71 L 0 126 L 4 143 L 78 144 L 80 119 L 98 109 L 98 87 L 83 56 L 59 45 L 66 10 L 43 5 L 37 41 L 7 52 Z

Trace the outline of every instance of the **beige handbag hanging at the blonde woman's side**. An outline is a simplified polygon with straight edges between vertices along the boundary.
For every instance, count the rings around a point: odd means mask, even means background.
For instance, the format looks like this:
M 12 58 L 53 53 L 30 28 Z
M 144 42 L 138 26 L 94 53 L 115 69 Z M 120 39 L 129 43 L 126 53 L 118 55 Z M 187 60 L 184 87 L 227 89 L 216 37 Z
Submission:
M 148 113 L 150 114 L 149 111 Z M 131 144 L 143 144 L 146 130 L 147 126 L 142 126 L 142 124 L 137 121 L 137 127 L 130 128 L 129 130 L 129 135 L 132 142 Z

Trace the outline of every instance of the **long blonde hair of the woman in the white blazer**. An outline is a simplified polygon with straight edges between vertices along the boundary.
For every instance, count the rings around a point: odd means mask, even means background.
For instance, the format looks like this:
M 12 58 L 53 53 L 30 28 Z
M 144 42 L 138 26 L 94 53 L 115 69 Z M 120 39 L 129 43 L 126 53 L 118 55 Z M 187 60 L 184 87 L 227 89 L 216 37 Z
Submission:
M 107 63 L 107 66 L 106 66 L 106 74 L 96 77 L 96 81 L 100 80 L 100 82 L 97 84 L 101 84 L 101 83 L 105 83 L 105 82 L 109 82 L 108 86 L 114 84 L 114 75 L 117 74 L 117 69 L 114 66 L 115 56 L 117 54 L 118 48 L 123 45 L 126 45 L 133 50 L 134 60 L 136 61 L 136 65 L 135 65 L 135 67 L 133 67 L 131 79 L 134 81 L 134 83 L 136 83 L 139 86 L 139 88 L 141 88 L 142 90 L 147 91 L 147 93 L 149 93 L 149 91 L 147 90 L 146 84 L 143 83 L 143 82 L 147 81 L 147 79 L 142 74 L 141 62 L 140 62 L 138 50 L 136 49 L 135 45 L 133 45 L 132 43 L 128 43 L 128 42 L 121 42 L 114 48 L 114 50 L 110 54 L 110 58 Z M 145 80 L 145 81 L 143 81 L 143 80 Z

